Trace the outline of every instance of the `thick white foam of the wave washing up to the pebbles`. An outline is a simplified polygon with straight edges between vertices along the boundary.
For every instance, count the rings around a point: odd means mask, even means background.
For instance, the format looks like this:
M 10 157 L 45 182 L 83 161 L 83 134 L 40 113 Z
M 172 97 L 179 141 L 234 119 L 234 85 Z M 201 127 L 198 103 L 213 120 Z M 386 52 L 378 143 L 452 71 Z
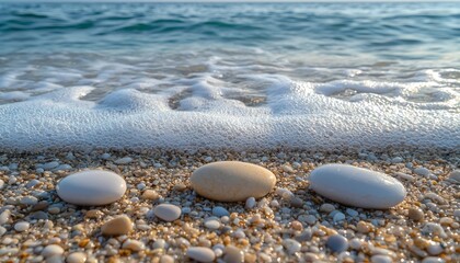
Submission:
M 429 110 L 425 103 L 399 101 L 412 84 L 334 81 L 296 82 L 261 75 L 271 82 L 266 104 L 246 106 L 226 98 L 229 89 L 199 77 L 186 87 L 191 96 L 172 108 L 177 93 L 148 94 L 122 89 L 100 102 L 82 98 L 92 87 L 60 89 L 33 100 L 0 106 L 2 149 L 44 148 L 372 148 L 409 145 L 460 146 L 458 96 L 453 106 Z M 364 92 L 360 100 L 330 94 L 344 87 Z M 183 92 L 184 89 L 175 89 Z M 356 94 L 355 94 L 356 95 Z M 401 99 L 400 99 L 401 101 Z M 450 102 L 452 104 L 452 102 Z

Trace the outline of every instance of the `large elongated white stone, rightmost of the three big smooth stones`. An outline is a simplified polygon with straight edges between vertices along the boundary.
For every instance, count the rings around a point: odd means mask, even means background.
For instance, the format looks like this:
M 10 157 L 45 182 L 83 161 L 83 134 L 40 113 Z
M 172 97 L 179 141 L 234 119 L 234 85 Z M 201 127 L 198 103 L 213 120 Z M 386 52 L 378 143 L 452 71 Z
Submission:
M 404 186 L 394 178 L 346 164 L 325 164 L 310 175 L 311 188 L 344 205 L 386 209 L 401 203 Z

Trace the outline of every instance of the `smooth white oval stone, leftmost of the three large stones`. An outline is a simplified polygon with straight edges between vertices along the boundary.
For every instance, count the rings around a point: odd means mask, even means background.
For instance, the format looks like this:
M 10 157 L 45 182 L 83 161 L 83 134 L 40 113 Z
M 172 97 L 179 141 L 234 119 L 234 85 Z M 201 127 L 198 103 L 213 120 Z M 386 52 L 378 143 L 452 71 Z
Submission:
M 113 172 L 88 170 L 62 179 L 56 190 L 59 197 L 70 204 L 107 205 L 122 198 L 126 182 Z

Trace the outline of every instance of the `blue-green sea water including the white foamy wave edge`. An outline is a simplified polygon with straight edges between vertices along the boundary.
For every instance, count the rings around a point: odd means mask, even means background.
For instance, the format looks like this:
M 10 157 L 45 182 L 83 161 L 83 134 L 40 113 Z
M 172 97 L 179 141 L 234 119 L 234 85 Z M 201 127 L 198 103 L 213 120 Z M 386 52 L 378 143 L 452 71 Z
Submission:
M 460 147 L 458 3 L 0 3 L 0 150 Z

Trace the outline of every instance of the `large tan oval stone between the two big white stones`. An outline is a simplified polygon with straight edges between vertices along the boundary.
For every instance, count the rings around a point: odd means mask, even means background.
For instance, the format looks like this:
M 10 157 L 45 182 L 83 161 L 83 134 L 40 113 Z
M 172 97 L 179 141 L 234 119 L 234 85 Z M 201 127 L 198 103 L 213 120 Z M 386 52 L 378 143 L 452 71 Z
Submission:
M 276 178 L 263 167 L 221 161 L 198 168 L 191 182 L 196 193 L 209 199 L 238 202 L 266 195 L 275 186 Z

